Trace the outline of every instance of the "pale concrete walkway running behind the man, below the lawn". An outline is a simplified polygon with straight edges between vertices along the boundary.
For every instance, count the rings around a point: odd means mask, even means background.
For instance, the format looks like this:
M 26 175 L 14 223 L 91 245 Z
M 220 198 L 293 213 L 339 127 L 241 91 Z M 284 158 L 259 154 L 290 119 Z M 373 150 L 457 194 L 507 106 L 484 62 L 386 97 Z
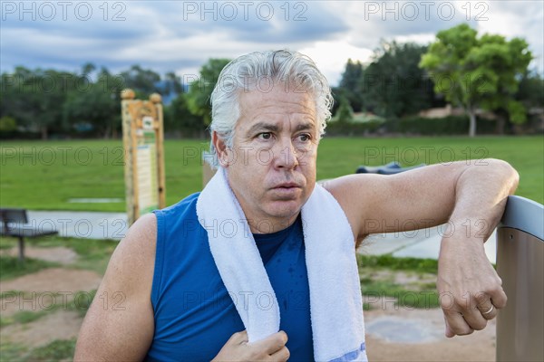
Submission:
M 77 211 L 28 211 L 29 224 L 40 230 L 56 229 L 61 236 L 88 239 L 121 240 L 128 230 L 124 213 Z M 360 252 L 371 255 L 393 253 L 397 257 L 438 259 L 444 225 L 403 233 L 373 234 L 364 241 Z M 495 232 L 485 243 L 491 262 L 496 261 Z

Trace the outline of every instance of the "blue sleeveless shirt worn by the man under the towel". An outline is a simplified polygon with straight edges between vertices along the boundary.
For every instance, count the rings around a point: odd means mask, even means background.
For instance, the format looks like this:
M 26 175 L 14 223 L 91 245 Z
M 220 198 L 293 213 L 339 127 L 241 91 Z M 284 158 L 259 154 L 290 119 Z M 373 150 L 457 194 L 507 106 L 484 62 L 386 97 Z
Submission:
M 199 224 L 198 197 L 190 195 L 154 211 L 157 249 L 151 303 L 155 332 L 148 361 L 210 361 L 232 334 L 245 329 L 209 251 L 208 234 Z M 276 293 L 289 361 L 313 361 L 300 216 L 285 230 L 253 236 Z M 236 302 L 244 302 L 242 295 L 236 297 Z

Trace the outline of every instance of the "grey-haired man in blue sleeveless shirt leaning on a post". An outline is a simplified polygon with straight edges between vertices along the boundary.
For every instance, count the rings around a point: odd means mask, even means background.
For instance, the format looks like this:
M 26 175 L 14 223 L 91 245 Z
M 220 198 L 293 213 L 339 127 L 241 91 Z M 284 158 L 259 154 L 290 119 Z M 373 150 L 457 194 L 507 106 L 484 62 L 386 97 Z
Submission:
M 131 226 L 83 322 L 76 360 L 314 359 L 300 214 L 317 188 L 317 146 L 330 118 L 330 89 L 316 65 L 297 52 L 255 52 L 221 72 L 211 101 L 214 163 L 226 171 L 270 280 L 287 268 L 268 262 L 281 265 L 278 250 L 285 249 L 282 255 L 293 258 L 300 273 L 296 282 L 273 283 L 283 330 L 248 342 L 197 224 L 197 194 Z M 481 164 L 350 175 L 324 185 L 345 214 L 354 249 L 369 233 L 391 232 L 382 229 L 386 225 L 449 223 L 437 281 L 438 291 L 452 297 L 441 299 L 448 337 L 483 329 L 506 304 L 483 243 L 518 175 L 500 160 Z M 287 303 L 279 291 L 284 282 L 292 282 L 288 288 L 298 289 L 291 296 L 300 298 Z

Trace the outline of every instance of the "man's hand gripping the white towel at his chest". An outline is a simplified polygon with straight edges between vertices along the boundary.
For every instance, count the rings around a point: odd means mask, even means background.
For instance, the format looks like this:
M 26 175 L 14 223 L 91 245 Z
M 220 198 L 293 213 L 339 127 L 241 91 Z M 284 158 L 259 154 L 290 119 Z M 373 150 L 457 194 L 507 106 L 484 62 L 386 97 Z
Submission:
M 287 334 L 283 330 L 253 343 L 248 343 L 248 332 L 244 330 L 228 338 L 212 362 L 287 361 L 290 355 L 286 343 Z

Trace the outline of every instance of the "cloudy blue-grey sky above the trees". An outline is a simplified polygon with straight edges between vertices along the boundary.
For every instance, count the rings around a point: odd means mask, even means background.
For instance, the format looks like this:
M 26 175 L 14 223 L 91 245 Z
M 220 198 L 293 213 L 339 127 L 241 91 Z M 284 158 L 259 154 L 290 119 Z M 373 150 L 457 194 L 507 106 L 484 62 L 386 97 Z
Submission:
M 544 70 L 544 2 L 534 1 L 4 1 L 0 70 L 79 72 L 141 64 L 182 79 L 209 58 L 289 48 L 305 52 L 332 85 L 348 58 L 368 62 L 380 40 L 432 42 L 460 23 L 525 38 Z

